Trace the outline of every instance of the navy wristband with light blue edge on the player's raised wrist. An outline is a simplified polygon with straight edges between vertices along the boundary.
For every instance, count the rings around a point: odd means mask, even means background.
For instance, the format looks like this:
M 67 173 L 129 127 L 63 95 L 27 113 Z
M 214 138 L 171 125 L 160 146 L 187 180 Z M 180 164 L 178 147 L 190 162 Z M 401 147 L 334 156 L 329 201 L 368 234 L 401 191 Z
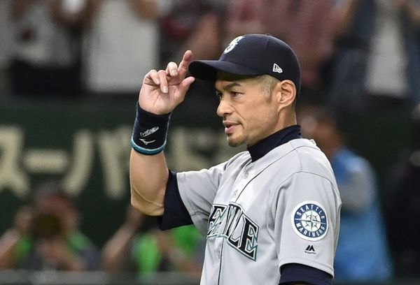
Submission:
M 165 149 L 169 117 L 156 115 L 140 108 L 137 103 L 137 115 L 134 122 L 131 145 L 141 154 L 153 155 Z

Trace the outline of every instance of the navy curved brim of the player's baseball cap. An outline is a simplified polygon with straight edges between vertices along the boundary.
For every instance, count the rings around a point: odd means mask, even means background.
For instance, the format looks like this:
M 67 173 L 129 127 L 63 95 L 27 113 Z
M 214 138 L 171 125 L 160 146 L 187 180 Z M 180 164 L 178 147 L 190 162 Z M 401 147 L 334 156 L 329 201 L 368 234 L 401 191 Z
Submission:
M 195 78 L 211 81 L 216 81 L 218 71 L 237 75 L 260 75 L 260 72 L 253 68 L 222 60 L 196 60 L 188 66 L 188 71 Z

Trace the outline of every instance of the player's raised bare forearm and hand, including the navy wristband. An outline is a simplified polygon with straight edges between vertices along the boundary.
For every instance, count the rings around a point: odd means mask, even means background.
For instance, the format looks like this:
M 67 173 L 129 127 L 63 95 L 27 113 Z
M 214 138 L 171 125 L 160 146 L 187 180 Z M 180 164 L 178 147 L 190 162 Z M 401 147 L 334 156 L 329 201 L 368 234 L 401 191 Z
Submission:
M 183 101 L 188 88 L 194 82 L 194 78 L 186 78 L 192 55 L 188 50 L 179 66 L 170 62 L 165 71 L 150 71 L 141 86 L 130 156 L 131 203 L 140 212 L 151 216 L 163 214 L 163 200 L 169 177 L 162 152 L 166 133 L 164 136 L 156 136 L 158 131 L 153 120 L 159 119 L 159 128 L 164 129 L 162 118 Z

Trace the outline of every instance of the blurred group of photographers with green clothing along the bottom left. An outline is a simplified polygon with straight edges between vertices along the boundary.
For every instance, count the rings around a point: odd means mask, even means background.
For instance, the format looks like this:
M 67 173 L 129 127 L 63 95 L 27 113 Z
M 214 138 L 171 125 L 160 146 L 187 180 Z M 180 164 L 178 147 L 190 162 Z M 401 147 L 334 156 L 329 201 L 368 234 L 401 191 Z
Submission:
M 127 207 L 125 221 L 100 249 L 80 231 L 75 199 L 55 181 L 41 183 L 0 239 L 0 269 L 139 273 L 180 271 L 200 276 L 203 238 L 193 226 L 160 231 Z

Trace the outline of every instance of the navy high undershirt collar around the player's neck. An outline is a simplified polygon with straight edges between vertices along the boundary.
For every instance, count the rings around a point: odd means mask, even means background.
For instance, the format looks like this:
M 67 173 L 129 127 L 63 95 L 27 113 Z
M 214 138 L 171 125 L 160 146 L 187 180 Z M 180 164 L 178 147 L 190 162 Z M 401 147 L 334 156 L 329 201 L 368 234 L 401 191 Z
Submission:
M 249 154 L 251 154 L 252 161 L 257 161 L 262 156 L 265 156 L 270 150 L 283 145 L 284 143 L 294 140 L 295 138 L 302 138 L 302 133 L 300 132 L 300 125 L 288 126 L 285 129 L 281 129 L 276 133 L 273 133 L 267 138 L 260 140 L 247 147 Z

